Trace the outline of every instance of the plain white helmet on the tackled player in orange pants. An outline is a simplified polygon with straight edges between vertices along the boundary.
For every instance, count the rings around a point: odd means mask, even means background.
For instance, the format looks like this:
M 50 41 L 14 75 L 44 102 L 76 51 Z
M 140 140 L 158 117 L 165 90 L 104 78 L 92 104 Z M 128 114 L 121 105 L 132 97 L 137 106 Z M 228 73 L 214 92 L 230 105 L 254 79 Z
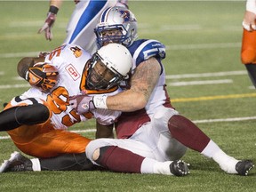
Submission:
M 122 44 L 107 44 L 92 55 L 86 85 L 93 90 L 108 90 L 129 76 L 132 55 Z

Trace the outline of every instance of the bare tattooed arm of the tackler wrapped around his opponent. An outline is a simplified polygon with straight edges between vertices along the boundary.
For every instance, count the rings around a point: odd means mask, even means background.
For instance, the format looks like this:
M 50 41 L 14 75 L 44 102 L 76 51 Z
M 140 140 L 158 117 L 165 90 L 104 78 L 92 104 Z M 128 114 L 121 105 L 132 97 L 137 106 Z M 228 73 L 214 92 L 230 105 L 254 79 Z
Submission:
M 132 75 L 131 89 L 108 96 L 107 108 L 120 111 L 134 111 L 145 108 L 158 82 L 160 73 L 161 67 L 156 58 L 152 57 L 143 61 Z

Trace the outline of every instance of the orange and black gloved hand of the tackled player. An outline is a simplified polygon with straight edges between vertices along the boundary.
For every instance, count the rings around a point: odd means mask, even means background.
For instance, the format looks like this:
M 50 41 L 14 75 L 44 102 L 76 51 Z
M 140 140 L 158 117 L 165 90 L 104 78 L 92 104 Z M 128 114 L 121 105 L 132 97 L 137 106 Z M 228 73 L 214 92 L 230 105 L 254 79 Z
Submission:
M 49 64 L 37 64 L 28 68 L 26 80 L 33 86 L 40 87 L 43 91 L 48 91 L 57 83 L 58 72 L 44 72 L 47 68 L 52 68 Z

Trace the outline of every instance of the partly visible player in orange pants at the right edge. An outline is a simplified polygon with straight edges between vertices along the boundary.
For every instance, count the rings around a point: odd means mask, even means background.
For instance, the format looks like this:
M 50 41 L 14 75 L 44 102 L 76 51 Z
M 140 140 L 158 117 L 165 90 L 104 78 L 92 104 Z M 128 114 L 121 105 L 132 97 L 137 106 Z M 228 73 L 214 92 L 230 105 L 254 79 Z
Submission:
M 247 0 L 243 20 L 241 60 L 256 88 L 256 0 Z

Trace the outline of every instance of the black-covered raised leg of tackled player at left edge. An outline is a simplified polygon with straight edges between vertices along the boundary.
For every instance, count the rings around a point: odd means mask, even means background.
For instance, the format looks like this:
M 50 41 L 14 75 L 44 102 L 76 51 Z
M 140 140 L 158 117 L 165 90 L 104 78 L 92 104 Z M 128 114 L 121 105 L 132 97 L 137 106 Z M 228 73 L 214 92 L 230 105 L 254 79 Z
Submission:
M 7 108 L 0 113 L 0 131 L 10 131 L 23 124 L 42 124 L 50 116 L 43 104 Z

